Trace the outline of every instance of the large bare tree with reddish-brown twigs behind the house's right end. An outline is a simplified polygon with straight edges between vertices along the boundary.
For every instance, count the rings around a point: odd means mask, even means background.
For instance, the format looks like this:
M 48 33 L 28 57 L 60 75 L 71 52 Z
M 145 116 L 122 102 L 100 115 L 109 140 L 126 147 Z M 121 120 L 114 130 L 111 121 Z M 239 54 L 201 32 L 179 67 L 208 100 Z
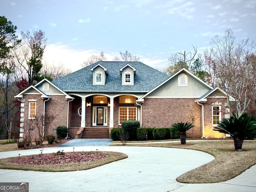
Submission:
M 215 36 L 210 44 L 210 67 L 216 85 L 235 98 L 230 104 L 240 117 L 256 94 L 256 44 L 249 39 L 237 41 L 230 29 L 222 38 Z

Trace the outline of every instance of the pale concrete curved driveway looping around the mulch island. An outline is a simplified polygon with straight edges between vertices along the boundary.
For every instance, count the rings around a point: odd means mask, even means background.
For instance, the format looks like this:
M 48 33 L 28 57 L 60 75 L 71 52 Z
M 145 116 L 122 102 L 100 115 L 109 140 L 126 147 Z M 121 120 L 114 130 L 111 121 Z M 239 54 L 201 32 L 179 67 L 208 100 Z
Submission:
M 73 147 L 63 147 L 62 149 L 64 152 L 73 151 Z M 0 182 L 29 182 L 30 192 L 238 192 L 256 190 L 256 184 L 254 186 L 251 186 L 251 183 L 248 184 L 249 186 L 239 186 L 236 180 L 233 182 L 235 184 L 232 184 L 232 180 L 216 184 L 176 182 L 176 178 L 184 172 L 214 159 L 213 156 L 204 152 L 133 146 L 74 148 L 75 151 L 96 151 L 96 149 L 98 151 L 123 152 L 128 155 L 128 158 L 90 170 L 74 172 L 0 170 Z M 52 153 L 58 150 L 60 148 L 44 148 L 43 153 Z M 0 158 L 18 156 L 18 153 L 20 155 L 39 154 L 40 149 L 0 152 Z M 255 166 L 251 169 L 247 171 L 255 173 Z M 246 181 L 248 178 L 244 178 L 244 180 Z

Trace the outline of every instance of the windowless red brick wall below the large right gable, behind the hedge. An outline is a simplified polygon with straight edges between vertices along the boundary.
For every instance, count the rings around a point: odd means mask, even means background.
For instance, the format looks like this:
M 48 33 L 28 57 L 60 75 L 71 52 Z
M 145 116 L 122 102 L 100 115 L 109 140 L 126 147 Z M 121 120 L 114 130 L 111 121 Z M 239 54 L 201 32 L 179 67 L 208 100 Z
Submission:
M 202 136 L 202 110 L 194 102 L 196 98 L 144 98 L 142 104 L 142 127 L 171 127 L 177 122 L 194 121 L 194 128 L 188 130 L 188 138 Z

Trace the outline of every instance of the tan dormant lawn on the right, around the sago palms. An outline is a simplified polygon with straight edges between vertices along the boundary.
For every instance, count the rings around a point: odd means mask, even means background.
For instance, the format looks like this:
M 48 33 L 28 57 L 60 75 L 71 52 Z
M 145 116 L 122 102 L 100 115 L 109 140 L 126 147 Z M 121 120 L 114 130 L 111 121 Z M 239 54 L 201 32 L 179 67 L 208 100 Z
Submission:
M 186 172 L 176 180 L 182 183 L 215 183 L 230 180 L 256 164 L 256 141 L 244 141 L 243 151 L 234 151 L 233 141 L 129 144 L 126 146 L 151 146 L 199 150 L 215 157 L 212 162 Z

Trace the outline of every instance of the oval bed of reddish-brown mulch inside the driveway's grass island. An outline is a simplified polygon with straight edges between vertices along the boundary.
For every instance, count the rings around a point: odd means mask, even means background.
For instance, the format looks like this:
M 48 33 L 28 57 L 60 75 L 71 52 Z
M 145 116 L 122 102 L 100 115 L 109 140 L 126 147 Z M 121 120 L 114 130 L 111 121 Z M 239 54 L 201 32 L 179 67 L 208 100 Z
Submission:
M 90 152 L 66 152 L 58 151 L 52 154 L 31 155 L 15 158 L 12 163 L 24 165 L 61 165 L 70 163 L 82 163 L 101 160 L 108 157 L 106 154 Z

